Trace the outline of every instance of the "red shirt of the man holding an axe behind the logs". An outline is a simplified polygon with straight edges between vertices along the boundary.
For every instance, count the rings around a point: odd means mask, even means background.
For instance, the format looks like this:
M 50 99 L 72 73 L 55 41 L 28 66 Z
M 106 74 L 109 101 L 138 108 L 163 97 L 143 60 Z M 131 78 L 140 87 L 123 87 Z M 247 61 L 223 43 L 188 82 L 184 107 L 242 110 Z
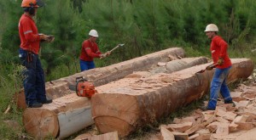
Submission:
M 85 40 L 82 44 L 80 59 L 84 61 L 93 61 L 93 58 L 100 58 L 100 50 L 96 42 Z

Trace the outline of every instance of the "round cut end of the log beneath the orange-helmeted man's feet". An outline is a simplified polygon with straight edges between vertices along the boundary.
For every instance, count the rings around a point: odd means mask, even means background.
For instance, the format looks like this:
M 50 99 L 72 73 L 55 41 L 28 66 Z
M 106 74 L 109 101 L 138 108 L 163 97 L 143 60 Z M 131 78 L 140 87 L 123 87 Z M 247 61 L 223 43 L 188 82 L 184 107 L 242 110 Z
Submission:
M 23 124 L 26 132 L 41 139 L 44 137 L 57 137 L 59 123 L 54 112 L 48 109 L 26 109 L 23 114 Z

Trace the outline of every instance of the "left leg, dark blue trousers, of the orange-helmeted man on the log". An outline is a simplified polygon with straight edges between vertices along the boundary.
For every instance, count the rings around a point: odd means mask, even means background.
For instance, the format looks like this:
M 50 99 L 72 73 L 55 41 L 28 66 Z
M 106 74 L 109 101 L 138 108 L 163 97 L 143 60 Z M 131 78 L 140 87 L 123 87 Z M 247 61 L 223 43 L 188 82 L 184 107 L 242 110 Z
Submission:
M 26 104 L 28 106 L 37 103 L 37 91 L 35 87 L 36 83 L 36 62 L 34 59 L 28 59 L 28 53 L 25 50 L 19 50 L 19 57 L 21 64 L 26 67 L 26 70 L 22 71 L 23 75 L 23 86 L 26 96 Z M 28 62 L 29 61 L 29 62 Z

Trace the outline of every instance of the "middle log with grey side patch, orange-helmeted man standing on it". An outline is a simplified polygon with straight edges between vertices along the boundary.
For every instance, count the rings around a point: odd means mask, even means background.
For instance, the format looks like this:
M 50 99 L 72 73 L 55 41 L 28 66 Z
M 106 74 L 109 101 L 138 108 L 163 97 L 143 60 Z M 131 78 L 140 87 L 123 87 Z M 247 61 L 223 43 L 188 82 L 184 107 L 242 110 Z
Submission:
M 175 62 L 173 64 L 168 63 L 180 70 L 187 65 L 207 63 L 207 59 L 203 57 L 188 58 L 178 59 Z M 155 74 L 156 70 L 154 69 L 157 69 L 157 67 L 150 69 L 154 71 L 153 73 L 149 72 L 150 76 Z M 44 112 L 44 115 L 41 115 L 42 112 Z M 37 120 L 34 120 L 34 117 Z M 67 137 L 74 132 L 79 132 L 86 126 L 90 126 L 92 123 L 94 121 L 91 118 L 90 100 L 78 97 L 74 92 L 61 98 L 55 98 L 52 104 L 44 104 L 40 109 L 26 109 L 23 114 L 23 124 L 26 132 L 37 138 L 47 137 L 47 135 L 59 138 Z M 42 127 L 51 129 L 41 129 Z

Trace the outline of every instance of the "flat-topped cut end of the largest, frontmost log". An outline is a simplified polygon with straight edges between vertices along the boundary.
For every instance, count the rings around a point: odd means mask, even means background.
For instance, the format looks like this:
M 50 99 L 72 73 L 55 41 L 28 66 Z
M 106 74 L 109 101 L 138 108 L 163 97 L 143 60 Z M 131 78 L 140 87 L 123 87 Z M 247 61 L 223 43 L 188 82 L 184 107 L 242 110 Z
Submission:
M 96 94 L 91 98 L 92 118 L 99 132 L 117 131 L 125 137 L 135 130 L 138 120 L 137 98 L 125 94 Z

